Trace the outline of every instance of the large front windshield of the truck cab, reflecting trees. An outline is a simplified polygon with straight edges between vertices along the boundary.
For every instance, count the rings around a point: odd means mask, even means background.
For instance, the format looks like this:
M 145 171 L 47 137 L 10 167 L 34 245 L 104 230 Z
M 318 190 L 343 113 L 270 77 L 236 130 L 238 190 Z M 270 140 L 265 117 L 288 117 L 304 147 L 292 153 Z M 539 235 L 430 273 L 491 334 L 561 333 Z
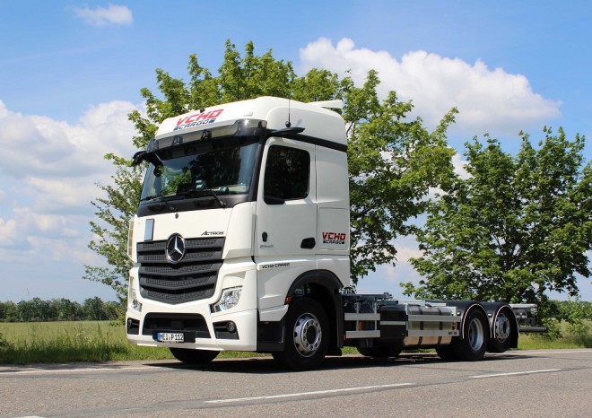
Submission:
M 150 165 L 142 201 L 248 194 L 258 137 L 185 144 L 157 152 L 162 165 Z M 199 191 L 204 193 L 199 193 Z

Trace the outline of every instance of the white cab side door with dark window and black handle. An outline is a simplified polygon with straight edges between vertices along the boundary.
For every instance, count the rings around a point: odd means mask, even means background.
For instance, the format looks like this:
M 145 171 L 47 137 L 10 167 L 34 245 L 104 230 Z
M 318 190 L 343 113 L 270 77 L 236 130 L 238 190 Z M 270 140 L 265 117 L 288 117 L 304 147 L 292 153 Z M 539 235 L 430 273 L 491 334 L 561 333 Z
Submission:
M 266 143 L 254 248 L 259 309 L 283 305 L 294 279 L 317 268 L 315 165 L 315 145 L 287 138 Z

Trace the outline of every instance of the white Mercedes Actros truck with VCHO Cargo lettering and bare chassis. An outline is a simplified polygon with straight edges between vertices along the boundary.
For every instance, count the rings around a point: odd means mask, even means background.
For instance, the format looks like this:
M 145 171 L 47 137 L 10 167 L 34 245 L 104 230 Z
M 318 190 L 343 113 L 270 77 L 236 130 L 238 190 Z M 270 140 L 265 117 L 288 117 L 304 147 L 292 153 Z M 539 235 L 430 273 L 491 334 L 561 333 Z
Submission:
M 292 370 L 344 346 L 475 361 L 518 344 L 531 305 L 352 294 L 341 102 L 261 97 L 162 122 L 130 222 L 126 333 L 179 361 L 272 353 Z

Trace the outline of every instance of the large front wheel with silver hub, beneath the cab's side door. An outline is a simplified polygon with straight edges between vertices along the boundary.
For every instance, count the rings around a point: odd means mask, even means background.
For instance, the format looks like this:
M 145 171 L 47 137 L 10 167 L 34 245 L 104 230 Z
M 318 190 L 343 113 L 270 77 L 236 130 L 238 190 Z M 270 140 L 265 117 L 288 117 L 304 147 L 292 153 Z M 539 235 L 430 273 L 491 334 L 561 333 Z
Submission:
M 285 319 L 286 343 L 274 359 L 290 370 L 311 370 L 325 359 L 329 347 L 329 320 L 317 300 L 292 301 Z

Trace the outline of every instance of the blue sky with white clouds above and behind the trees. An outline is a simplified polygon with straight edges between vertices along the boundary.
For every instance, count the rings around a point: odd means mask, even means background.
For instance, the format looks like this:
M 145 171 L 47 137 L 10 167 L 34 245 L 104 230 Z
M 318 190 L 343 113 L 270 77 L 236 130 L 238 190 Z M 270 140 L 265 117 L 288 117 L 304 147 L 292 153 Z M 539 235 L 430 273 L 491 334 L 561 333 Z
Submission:
M 380 91 L 414 100 L 434 126 L 460 110 L 450 144 L 488 132 L 506 151 L 518 131 L 563 126 L 592 137 L 592 3 L 469 1 L 7 1 L 0 0 L 0 300 L 114 293 L 84 281 L 96 182 L 109 182 L 106 152 L 131 155 L 126 114 L 156 91 L 154 70 L 187 76 L 196 53 L 213 72 L 224 41 L 292 61 L 304 74 L 379 71 Z M 592 147 L 587 144 L 586 159 Z M 456 158 L 458 167 L 462 155 Z M 361 281 L 360 292 L 417 280 L 399 239 L 399 262 Z M 592 300 L 590 280 L 579 280 Z

